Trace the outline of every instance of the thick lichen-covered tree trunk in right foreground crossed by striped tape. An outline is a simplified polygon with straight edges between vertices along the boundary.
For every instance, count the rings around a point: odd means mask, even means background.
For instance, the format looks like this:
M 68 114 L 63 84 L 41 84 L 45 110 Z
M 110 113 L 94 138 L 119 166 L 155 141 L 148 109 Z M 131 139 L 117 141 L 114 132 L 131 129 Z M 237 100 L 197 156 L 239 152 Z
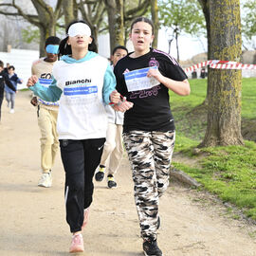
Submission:
M 240 3 L 210 1 L 210 60 L 239 62 L 242 54 Z M 208 127 L 201 147 L 242 145 L 241 70 L 210 69 Z

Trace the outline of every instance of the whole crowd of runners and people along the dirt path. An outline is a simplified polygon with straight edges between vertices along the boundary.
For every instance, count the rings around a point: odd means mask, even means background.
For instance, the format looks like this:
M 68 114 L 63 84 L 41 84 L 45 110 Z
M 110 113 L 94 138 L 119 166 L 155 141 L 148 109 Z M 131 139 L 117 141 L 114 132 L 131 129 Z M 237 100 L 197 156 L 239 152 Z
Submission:
M 154 36 L 152 21 L 138 17 L 129 34 L 134 50 L 116 46 L 110 65 L 97 53 L 91 27 L 78 20 L 66 27 L 63 40 L 48 37 L 46 56 L 31 66 L 27 87 L 34 94 L 30 102 L 41 131 L 38 186 L 52 186 L 60 148 L 66 222 L 72 233 L 70 253 L 84 250 L 82 229 L 93 202 L 93 179 L 101 182 L 106 174 L 107 187 L 117 188 L 114 175 L 125 149 L 143 252 L 163 254 L 157 245 L 158 206 L 169 185 L 175 141 L 169 90 L 186 96 L 190 83 L 172 56 L 151 47 Z M 0 85 L 5 84 L 10 113 L 17 83 L 22 82 L 14 70 L 9 65 L 7 73 L 0 62 Z M 0 94 L 0 106 L 2 101 Z

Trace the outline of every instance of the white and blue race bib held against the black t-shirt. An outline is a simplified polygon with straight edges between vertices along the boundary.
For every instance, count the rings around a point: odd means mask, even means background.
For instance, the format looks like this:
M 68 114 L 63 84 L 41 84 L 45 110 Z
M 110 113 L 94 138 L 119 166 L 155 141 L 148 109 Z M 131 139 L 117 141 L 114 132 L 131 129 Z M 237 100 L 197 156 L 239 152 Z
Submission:
M 157 66 L 136 69 L 124 74 L 128 92 L 151 89 L 160 83 L 155 78 L 147 77 L 150 68 L 156 69 Z

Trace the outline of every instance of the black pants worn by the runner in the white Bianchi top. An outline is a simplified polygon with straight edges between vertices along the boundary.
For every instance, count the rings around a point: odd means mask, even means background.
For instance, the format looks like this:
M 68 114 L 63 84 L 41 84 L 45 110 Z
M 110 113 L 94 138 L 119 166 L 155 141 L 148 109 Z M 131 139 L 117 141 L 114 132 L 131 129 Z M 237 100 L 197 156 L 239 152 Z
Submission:
M 105 138 L 60 139 L 65 172 L 66 221 L 71 232 L 81 230 L 83 211 L 92 203 L 93 176 L 100 164 Z

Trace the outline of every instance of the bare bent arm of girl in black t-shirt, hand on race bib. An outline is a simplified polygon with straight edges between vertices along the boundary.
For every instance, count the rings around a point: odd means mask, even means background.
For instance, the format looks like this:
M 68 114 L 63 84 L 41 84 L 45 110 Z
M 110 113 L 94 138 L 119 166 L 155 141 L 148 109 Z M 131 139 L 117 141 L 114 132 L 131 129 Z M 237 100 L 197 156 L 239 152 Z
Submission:
M 150 69 L 147 76 L 154 77 L 158 82 L 164 84 L 168 89 L 172 90 L 175 94 L 187 96 L 191 93 L 190 82 L 186 79 L 184 81 L 175 81 L 173 79 L 164 77 L 158 69 Z

